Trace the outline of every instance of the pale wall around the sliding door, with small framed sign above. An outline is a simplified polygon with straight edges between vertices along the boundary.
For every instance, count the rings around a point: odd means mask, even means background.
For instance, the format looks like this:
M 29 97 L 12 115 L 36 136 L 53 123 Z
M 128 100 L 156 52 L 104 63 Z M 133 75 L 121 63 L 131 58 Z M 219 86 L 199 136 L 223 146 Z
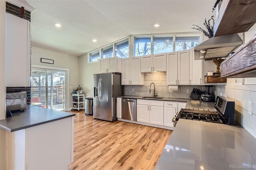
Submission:
M 54 64 L 41 63 L 41 58 L 48 58 L 54 60 Z M 57 67 L 57 68 L 68 68 L 69 69 L 69 89 L 71 93 L 73 88 L 78 86 L 78 57 L 70 54 L 64 54 L 52 50 L 46 50 L 44 48 L 31 47 L 31 62 L 32 65 Z M 68 87 L 69 88 L 69 87 Z M 69 103 L 68 108 L 71 107 L 71 95 L 68 94 Z

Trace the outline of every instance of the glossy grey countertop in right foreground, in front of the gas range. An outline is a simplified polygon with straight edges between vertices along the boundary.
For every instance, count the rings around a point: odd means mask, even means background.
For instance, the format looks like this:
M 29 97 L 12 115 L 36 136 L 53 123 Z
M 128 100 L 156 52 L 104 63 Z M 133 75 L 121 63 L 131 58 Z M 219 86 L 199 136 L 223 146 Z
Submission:
M 180 119 L 155 170 L 256 168 L 255 146 L 256 139 L 242 126 Z

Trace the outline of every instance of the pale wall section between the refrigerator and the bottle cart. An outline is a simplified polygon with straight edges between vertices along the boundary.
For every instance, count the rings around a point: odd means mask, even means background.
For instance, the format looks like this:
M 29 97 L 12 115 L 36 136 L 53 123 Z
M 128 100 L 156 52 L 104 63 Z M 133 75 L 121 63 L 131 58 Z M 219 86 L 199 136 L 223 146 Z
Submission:
M 78 84 L 85 90 L 86 97 L 93 97 L 93 74 L 98 73 L 98 63 L 87 63 L 87 54 L 78 57 Z

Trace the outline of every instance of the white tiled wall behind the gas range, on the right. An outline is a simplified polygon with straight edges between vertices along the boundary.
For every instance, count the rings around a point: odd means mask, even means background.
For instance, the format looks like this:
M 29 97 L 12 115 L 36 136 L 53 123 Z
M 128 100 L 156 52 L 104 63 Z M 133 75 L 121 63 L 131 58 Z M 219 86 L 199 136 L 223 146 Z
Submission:
M 245 43 L 256 34 L 256 25 L 245 33 Z M 255 82 L 256 84 L 256 82 Z M 216 86 L 216 95 L 232 98 L 236 102 L 236 121 L 256 138 L 256 85 L 243 85 L 242 78 L 228 78 L 226 86 Z M 248 101 L 253 102 L 252 115 L 248 114 Z

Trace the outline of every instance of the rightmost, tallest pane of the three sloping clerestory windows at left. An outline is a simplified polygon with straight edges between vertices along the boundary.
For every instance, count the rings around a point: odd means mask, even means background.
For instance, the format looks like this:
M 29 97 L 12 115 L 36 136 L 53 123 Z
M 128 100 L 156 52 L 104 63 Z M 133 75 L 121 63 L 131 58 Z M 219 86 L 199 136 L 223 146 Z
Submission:
M 129 56 L 129 38 L 115 43 L 115 56 L 121 58 Z

